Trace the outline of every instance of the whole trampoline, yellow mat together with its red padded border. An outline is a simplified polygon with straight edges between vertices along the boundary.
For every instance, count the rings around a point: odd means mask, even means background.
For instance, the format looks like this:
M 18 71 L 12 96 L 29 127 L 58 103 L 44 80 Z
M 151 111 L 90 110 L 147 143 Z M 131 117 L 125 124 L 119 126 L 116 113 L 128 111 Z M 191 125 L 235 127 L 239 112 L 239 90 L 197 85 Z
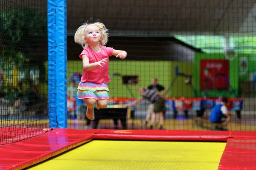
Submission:
M 1 170 L 252 170 L 256 132 L 53 129 L 0 147 Z

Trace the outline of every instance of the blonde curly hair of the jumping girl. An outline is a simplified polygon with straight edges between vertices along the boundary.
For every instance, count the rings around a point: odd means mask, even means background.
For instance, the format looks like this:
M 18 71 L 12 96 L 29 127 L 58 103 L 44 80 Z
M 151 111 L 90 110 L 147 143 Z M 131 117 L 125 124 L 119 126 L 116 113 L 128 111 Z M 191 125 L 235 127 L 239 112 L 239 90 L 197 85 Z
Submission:
M 103 23 L 84 23 L 83 25 L 81 25 L 77 30 L 76 30 L 76 34 L 75 34 L 75 42 L 80 44 L 83 48 L 86 48 L 88 46 L 88 43 L 85 42 L 84 38 L 86 35 L 86 29 L 89 26 L 96 26 L 99 28 L 99 31 L 101 33 L 101 37 L 99 40 L 99 44 L 100 45 L 105 45 L 108 42 L 108 29 L 105 27 L 105 25 Z

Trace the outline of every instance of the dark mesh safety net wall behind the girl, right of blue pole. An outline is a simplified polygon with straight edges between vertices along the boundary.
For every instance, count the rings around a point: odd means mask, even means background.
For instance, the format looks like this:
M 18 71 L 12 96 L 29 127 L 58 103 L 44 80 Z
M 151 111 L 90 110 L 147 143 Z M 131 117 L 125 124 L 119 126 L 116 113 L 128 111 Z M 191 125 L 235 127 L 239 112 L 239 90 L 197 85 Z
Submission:
M 73 89 L 68 127 L 159 129 L 162 124 L 172 130 L 255 130 L 255 10 L 251 0 L 68 1 L 67 77 L 68 90 Z M 83 49 L 74 34 L 82 23 L 97 20 L 109 29 L 106 46 L 125 50 L 128 57 L 109 58 L 109 105 L 94 110 L 90 121 L 86 102 L 71 95 L 83 69 Z M 167 90 L 163 123 L 160 114 L 153 122 L 146 118 L 147 100 L 123 108 L 140 97 L 137 88 L 152 85 L 154 78 Z M 209 116 L 224 96 L 231 119 L 222 127 Z

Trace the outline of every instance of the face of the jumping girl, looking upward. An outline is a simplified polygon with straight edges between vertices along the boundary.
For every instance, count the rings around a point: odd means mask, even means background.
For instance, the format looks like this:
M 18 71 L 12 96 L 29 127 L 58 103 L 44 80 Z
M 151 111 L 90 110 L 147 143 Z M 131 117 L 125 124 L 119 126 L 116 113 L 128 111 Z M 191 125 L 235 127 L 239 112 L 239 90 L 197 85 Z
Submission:
M 101 34 L 99 31 L 99 28 L 96 26 L 89 26 L 86 29 L 84 40 L 88 44 L 96 44 L 96 43 L 99 43 L 100 37 L 101 37 Z

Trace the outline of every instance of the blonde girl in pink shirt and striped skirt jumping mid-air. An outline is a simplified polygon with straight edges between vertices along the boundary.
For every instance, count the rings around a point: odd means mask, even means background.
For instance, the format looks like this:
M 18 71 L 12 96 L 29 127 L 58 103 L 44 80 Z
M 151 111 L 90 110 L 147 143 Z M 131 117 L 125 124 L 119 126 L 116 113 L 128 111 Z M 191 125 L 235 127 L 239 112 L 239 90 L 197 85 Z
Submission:
M 109 89 L 105 83 L 110 82 L 108 75 L 108 57 L 116 56 L 125 59 L 125 51 L 116 50 L 104 45 L 108 42 L 108 29 L 103 23 L 84 23 L 75 34 L 75 42 L 84 50 L 79 57 L 83 60 L 83 74 L 78 85 L 77 97 L 86 99 L 88 119 L 93 120 L 93 106 L 106 108 L 109 100 Z

